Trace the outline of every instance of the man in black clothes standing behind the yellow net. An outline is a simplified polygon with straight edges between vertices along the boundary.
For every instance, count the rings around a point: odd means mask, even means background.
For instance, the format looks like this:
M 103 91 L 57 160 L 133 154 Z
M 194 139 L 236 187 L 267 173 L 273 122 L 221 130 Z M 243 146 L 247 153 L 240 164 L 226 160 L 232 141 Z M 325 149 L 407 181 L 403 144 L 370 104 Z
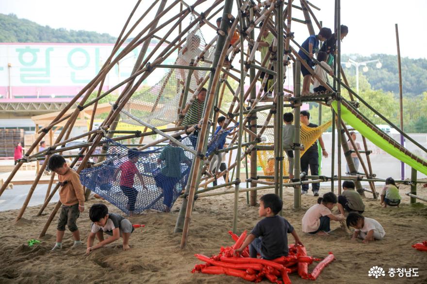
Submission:
M 317 125 L 310 123 L 310 112 L 308 110 L 302 110 L 300 112 L 300 120 L 301 123 L 303 123 L 306 126 L 309 127 L 317 127 Z M 325 149 L 325 144 L 323 143 L 322 136 L 319 137 L 319 143 L 322 147 L 322 155 L 325 158 L 328 158 L 328 152 Z M 301 157 L 301 172 L 306 172 L 308 174 L 310 166 L 310 172 L 311 175 L 318 175 L 319 174 L 319 153 L 317 150 L 317 141 L 314 142 L 314 144 L 307 149 L 307 151 L 302 155 Z M 307 178 L 303 178 L 302 180 L 307 180 Z M 312 183 L 312 190 L 314 196 L 319 196 L 319 183 Z M 306 194 L 309 190 L 308 184 L 303 184 L 301 188 L 301 194 Z

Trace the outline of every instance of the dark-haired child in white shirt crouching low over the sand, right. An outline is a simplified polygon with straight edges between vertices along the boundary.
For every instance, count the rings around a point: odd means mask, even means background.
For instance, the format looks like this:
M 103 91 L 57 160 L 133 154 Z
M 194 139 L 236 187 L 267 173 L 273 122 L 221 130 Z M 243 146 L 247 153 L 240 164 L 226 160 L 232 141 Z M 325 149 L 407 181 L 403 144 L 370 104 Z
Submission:
M 378 223 L 377 220 L 363 217 L 359 213 L 351 212 L 347 216 L 347 227 L 352 226 L 356 230 L 354 231 L 351 239 L 357 239 L 360 237 L 363 239 L 363 243 L 367 244 L 369 241 L 376 239 L 382 239 L 385 235 L 384 228 Z

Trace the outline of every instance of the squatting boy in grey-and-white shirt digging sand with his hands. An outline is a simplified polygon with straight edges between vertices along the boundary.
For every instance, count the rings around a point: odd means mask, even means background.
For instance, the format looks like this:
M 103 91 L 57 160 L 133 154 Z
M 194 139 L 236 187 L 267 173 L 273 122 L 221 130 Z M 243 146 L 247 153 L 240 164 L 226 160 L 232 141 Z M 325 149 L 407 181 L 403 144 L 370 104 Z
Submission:
M 100 203 L 90 207 L 89 218 L 93 223 L 87 238 L 86 255 L 118 240 L 120 237 L 123 238 L 123 250 L 128 251 L 131 249 L 129 238 L 133 232 L 133 226 L 129 220 L 118 214 L 108 213 L 107 206 Z M 104 233 L 111 237 L 104 239 Z M 98 238 L 99 242 L 94 246 L 95 237 Z

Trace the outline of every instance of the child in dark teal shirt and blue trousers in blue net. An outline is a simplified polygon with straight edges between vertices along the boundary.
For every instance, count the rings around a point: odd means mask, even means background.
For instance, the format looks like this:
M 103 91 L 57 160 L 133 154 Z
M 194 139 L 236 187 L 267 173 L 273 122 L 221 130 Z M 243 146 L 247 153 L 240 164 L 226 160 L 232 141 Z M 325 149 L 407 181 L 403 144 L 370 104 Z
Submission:
M 180 139 L 177 137 L 176 139 Z M 163 163 L 162 163 L 163 162 Z M 173 203 L 174 189 L 181 180 L 183 173 L 181 164 L 187 164 L 191 167 L 191 160 L 185 156 L 184 150 L 170 141 L 169 146 L 165 147 L 160 153 L 157 163 L 162 163 L 160 173 L 154 175 L 156 185 L 163 190 L 163 204 L 166 206 L 165 212 L 169 212 Z

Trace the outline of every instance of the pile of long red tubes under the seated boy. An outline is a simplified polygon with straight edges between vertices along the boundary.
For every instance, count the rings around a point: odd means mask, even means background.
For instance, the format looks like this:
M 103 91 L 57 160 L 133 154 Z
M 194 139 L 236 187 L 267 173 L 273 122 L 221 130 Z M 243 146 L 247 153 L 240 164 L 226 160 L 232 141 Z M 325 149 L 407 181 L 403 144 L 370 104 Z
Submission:
M 289 245 L 288 256 L 281 256 L 273 260 L 250 258 L 248 247 L 240 255 L 235 253 L 235 250 L 242 246 L 247 232 L 244 231 L 240 236 L 231 231 L 229 234 L 235 241 L 234 245 L 221 247 L 219 254 L 212 257 L 195 254 L 204 264 L 197 264 L 191 272 L 226 274 L 256 283 L 266 278 L 271 283 L 290 284 L 289 274 L 298 273 L 303 279 L 316 280 L 320 272 L 334 260 L 334 255 L 329 252 L 329 255 L 319 262 L 312 273 L 309 273 L 308 266 L 320 259 L 308 256 L 303 246 Z

